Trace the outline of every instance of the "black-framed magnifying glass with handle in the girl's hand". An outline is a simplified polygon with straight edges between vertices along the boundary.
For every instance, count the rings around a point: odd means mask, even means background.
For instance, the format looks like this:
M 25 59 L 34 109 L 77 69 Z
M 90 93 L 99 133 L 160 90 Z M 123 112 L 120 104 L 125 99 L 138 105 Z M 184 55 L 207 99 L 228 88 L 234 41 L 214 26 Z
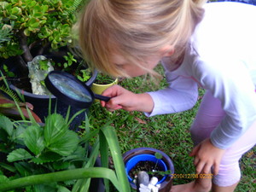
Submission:
M 90 87 L 79 79 L 61 71 L 49 72 L 44 83 L 54 96 L 77 108 L 89 108 L 95 99 L 108 102 L 111 98 L 94 94 Z

